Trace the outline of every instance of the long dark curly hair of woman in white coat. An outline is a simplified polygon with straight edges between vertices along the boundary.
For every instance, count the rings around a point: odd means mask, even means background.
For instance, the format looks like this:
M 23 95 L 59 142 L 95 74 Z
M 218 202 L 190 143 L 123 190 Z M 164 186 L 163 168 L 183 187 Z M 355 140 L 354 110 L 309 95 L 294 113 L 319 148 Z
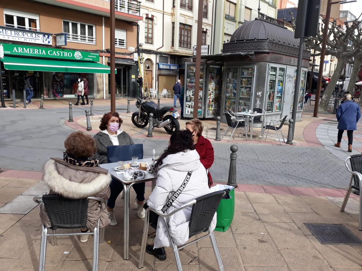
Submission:
M 194 139 L 192 138 L 192 133 L 189 130 L 179 130 L 173 132 L 170 137 L 170 146 L 164 151 L 164 153 L 157 159 L 156 164 L 153 166 L 152 173 L 156 174 L 160 165 L 162 165 L 162 160 L 170 155 L 176 154 L 177 152 L 186 152 L 188 150 L 194 150 Z

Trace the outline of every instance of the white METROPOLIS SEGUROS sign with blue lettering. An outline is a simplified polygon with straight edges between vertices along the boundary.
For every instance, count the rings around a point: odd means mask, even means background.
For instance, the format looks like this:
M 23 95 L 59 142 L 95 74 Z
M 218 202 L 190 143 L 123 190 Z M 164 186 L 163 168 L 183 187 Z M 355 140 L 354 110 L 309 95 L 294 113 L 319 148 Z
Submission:
M 6 39 L 13 42 L 29 42 L 52 45 L 52 34 L 39 31 L 23 30 L 8 26 L 0 26 L 0 39 Z

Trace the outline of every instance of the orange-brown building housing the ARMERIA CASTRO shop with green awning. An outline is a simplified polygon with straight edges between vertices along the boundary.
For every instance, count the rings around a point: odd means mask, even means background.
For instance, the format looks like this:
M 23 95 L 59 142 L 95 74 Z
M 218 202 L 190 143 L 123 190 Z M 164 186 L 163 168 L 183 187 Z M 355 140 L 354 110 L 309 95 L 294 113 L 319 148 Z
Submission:
M 3 1 L 0 14 L 5 98 L 12 98 L 12 90 L 22 98 L 27 75 L 33 78 L 35 98 L 74 98 L 78 77 L 87 78 L 90 96 L 108 98 L 109 1 Z M 136 96 L 139 2 L 116 0 L 115 17 L 117 94 Z

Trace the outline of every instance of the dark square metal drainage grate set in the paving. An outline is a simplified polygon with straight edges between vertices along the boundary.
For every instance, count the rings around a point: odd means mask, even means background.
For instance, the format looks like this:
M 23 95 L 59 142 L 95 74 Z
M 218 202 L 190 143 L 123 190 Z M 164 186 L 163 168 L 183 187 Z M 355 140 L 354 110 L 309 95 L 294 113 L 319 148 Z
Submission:
M 362 245 L 362 241 L 342 224 L 304 223 L 321 244 Z

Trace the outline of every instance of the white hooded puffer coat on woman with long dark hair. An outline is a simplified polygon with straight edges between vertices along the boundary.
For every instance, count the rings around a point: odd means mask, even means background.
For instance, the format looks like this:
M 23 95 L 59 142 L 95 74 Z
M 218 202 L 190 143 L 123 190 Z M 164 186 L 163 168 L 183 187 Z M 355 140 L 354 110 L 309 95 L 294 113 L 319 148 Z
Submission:
M 202 195 L 210 193 L 207 185 L 206 170 L 200 162 L 196 150 L 178 152 L 163 159 L 157 173 L 156 187 L 147 201 L 147 205 L 155 210 L 161 210 L 173 193 L 180 188 L 188 171 L 192 171 L 190 180 L 181 194 L 167 209 L 169 214 L 178 207 Z M 169 227 L 172 240 L 176 245 L 183 245 L 189 240 L 189 220 L 192 206 L 177 212 L 169 218 Z M 210 224 L 213 231 L 216 226 L 216 213 Z M 164 219 L 159 217 L 156 230 L 155 248 L 170 246 Z

